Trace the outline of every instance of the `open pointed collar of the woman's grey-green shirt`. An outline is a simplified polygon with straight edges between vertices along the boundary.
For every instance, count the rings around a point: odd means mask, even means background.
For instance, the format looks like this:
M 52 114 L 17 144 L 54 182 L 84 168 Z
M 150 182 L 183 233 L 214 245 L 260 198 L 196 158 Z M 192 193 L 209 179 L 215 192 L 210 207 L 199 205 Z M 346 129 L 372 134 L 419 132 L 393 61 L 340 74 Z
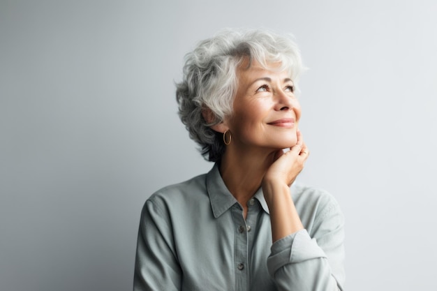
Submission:
M 232 205 L 238 203 L 235 197 L 229 192 L 223 179 L 221 179 L 218 163 L 216 163 L 207 174 L 207 191 L 209 200 L 211 201 L 212 213 L 215 218 L 218 218 L 218 216 L 221 216 L 221 214 L 230 209 Z M 267 207 L 267 202 L 265 202 L 262 188 L 259 188 L 253 197 L 260 202 L 262 209 L 269 214 L 269 207 Z

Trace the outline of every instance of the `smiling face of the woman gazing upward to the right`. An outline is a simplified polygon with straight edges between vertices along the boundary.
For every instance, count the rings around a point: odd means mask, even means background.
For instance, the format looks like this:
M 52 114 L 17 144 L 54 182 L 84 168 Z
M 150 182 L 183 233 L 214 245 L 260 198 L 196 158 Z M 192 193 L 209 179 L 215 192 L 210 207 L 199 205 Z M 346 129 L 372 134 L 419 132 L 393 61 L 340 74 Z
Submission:
M 297 142 L 300 105 L 286 71 L 248 61 L 237 68 L 238 89 L 232 117 L 225 119 L 232 143 L 242 147 L 285 149 Z

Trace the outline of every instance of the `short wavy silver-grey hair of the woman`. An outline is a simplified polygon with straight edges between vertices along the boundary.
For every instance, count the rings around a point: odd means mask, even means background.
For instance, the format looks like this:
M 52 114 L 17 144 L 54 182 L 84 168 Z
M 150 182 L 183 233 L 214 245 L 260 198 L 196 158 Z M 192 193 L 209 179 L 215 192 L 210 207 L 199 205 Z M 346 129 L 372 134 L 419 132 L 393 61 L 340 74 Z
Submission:
M 254 60 L 264 68 L 268 63 L 279 62 L 279 70 L 287 70 L 297 88 L 302 60 L 290 35 L 265 29 L 225 29 L 200 41 L 185 56 L 183 79 L 176 84 L 179 117 L 207 161 L 220 161 L 225 152 L 223 134 L 210 126 L 232 114 L 238 87 L 237 66 L 247 57 L 249 66 Z M 202 116 L 206 108 L 214 114 L 210 123 Z

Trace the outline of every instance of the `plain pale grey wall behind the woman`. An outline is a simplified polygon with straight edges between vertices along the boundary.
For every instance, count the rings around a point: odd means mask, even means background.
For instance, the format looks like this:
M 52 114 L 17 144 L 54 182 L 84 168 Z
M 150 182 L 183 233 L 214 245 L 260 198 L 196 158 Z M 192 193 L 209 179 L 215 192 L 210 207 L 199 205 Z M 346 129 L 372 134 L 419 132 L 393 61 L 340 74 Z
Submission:
M 1 0 L 0 289 L 131 290 L 142 204 L 212 166 L 184 54 L 268 27 L 310 68 L 300 180 L 346 215 L 347 289 L 437 290 L 436 3 Z

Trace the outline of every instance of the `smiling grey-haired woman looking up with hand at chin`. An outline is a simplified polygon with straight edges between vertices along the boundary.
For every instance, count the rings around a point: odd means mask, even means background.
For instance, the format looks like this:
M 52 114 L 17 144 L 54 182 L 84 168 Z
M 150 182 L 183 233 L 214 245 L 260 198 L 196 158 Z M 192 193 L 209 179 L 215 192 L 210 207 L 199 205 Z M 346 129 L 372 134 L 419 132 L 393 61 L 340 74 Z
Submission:
M 288 36 L 260 30 L 187 54 L 179 115 L 214 166 L 145 203 L 134 290 L 343 290 L 339 205 L 295 182 L 309 156 L 301 68 Z

